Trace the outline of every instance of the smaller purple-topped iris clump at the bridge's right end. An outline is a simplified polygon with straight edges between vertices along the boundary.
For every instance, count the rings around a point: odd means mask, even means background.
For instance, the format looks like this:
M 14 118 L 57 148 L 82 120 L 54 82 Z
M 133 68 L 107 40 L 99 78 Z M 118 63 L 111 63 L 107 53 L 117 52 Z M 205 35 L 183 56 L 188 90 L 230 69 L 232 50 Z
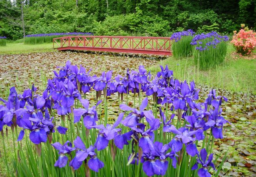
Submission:
M 194 33 L 195 32 L 193 30 L 173 33 L 170 39 L 175 40 L 172 45 L 173 56 L 175 58 L 178 59 L 191 56 L 193 52 L 193 46 L 191 46 L 190 42 L 193 39 Z

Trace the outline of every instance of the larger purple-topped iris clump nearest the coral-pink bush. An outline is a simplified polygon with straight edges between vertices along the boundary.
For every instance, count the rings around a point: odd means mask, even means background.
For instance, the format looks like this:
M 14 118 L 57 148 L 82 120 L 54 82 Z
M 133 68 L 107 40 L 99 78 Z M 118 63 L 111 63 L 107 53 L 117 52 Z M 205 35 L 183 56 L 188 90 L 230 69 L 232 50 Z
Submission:
M 193 56 L 195 64 L 202 70 L 213 68 L 225 59 L 228 37 L 212 31 L 195 35 L 191 45 L 195 46 Z

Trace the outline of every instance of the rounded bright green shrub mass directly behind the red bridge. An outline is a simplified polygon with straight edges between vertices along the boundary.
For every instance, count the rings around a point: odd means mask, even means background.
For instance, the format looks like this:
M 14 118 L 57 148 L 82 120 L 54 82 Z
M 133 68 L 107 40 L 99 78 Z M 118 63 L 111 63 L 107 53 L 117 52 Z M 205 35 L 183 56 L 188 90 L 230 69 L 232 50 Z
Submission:
M 170 29 L 169 22 L 158 15 L 151 17 L 138 13 L 109 16 L 103 22 L 94 22 L 93 26 L 96 35 L 116 36 L 163 36 Z

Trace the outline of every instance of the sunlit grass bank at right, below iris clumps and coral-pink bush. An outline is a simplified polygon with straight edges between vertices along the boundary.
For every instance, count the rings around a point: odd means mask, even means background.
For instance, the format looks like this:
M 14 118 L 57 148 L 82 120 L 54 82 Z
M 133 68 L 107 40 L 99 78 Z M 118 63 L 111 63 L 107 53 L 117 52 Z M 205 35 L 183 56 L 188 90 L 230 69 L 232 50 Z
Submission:
M 239 57 L 239 55 L 234 54 L 234 48 L 231 44 L 228 46 L 224 63 L 210 70 L 198 70 L 193 57 L 179 60 L 169 57 L 160 61 L 159 65 L 168 65 L 177 79 L 195 80 L 196 84 L 199 85 L 256 94 L 256 59 Z M 160 71 L 160 67 L 158 65 L 152 66 L 149 70 L 155 74 Z

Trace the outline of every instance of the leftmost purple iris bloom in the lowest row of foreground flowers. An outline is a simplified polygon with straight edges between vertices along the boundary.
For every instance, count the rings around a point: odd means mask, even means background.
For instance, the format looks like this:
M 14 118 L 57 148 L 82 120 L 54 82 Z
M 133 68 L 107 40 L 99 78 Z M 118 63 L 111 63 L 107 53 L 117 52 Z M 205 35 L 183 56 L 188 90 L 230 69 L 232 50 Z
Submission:
M 71 151 L 74 151 L 76 148 L 72 147 L 70 141 L 66 141 L 63 145 L 59 142 L 55 142 L 52 146 L 59 151 L 59 159 L 55 162 L 54 166 L 58 166 L 59 168 L 65 167 L 69 159 L 65 154 L 70 154 Z

